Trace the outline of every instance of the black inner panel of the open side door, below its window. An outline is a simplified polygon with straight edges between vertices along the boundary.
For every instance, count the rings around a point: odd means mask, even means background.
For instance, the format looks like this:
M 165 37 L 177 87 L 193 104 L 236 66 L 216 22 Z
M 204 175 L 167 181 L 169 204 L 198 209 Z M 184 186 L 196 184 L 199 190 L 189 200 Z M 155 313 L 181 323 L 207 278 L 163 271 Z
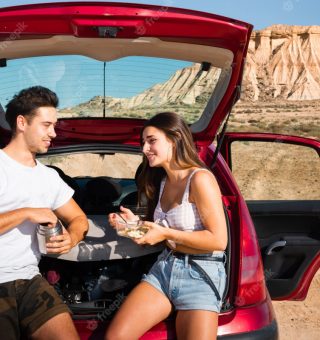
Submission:
M 271 296 L 292 294 L 320 251 L 319 201 L 247 201 Z

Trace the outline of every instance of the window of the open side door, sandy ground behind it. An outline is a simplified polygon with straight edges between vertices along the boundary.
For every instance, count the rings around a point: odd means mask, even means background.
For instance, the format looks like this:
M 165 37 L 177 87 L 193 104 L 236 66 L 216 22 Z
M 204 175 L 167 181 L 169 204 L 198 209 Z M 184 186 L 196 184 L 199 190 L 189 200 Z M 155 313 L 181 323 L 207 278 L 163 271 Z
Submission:
M 320 160 L 310 147 L 235 141 L 231 162 L 246 200 L 319 199 Z

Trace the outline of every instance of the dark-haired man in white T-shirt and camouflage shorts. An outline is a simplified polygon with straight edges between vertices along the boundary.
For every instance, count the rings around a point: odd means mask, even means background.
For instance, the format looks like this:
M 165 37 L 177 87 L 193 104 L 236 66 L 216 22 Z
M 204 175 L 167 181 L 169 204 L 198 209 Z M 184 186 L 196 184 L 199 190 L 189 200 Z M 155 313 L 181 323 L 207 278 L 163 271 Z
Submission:
M 68 252 L 83 239 L 88 221 L 58 173 L 36 160 L 56 137 L 58 98 L 41 86 L 22 90 L 7 104 L 12 138 L 0 150 L 1 339 L 79 339 L 70 311 L 39 274 L 39 223 L 67 230 L 47 252 Z

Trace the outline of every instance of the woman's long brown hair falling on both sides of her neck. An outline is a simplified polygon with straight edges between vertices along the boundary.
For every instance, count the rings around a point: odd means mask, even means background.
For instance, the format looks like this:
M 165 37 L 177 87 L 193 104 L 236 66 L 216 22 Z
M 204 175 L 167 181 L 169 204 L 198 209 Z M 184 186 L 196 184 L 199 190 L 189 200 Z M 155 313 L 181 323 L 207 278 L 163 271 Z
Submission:
M 150 118 L 140 134 L 141 146 L 143 131 L 148 126 L 153 126 L 163 131 L 166 137 L 174 143 L 173 158 L 181 169 L 191 167 L 206 168 L 206 165 L 198 157 L 188 125 L 178 114 L 161 112 Z M 154 209 L 159 199 L 160 183 L 165 176 L 166 172 L 163 168 L 150 167 L 147 157 L 143 155 L 142 169 L 137 180 L 139 205 L 143 206 L 143 198 L 147 200 L 146 219 L 148 221 L 153 221 Z

